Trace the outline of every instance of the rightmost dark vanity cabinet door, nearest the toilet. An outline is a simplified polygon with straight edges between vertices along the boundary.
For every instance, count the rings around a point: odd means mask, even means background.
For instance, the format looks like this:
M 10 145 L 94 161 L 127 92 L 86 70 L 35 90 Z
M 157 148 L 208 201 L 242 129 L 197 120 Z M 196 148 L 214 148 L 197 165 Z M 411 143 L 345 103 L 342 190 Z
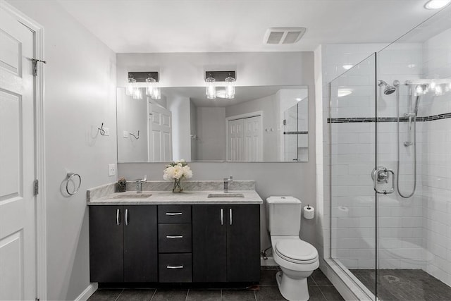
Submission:
M 259 282 L 260 206 L 228 206 L 227 216 L 227 281 Z

